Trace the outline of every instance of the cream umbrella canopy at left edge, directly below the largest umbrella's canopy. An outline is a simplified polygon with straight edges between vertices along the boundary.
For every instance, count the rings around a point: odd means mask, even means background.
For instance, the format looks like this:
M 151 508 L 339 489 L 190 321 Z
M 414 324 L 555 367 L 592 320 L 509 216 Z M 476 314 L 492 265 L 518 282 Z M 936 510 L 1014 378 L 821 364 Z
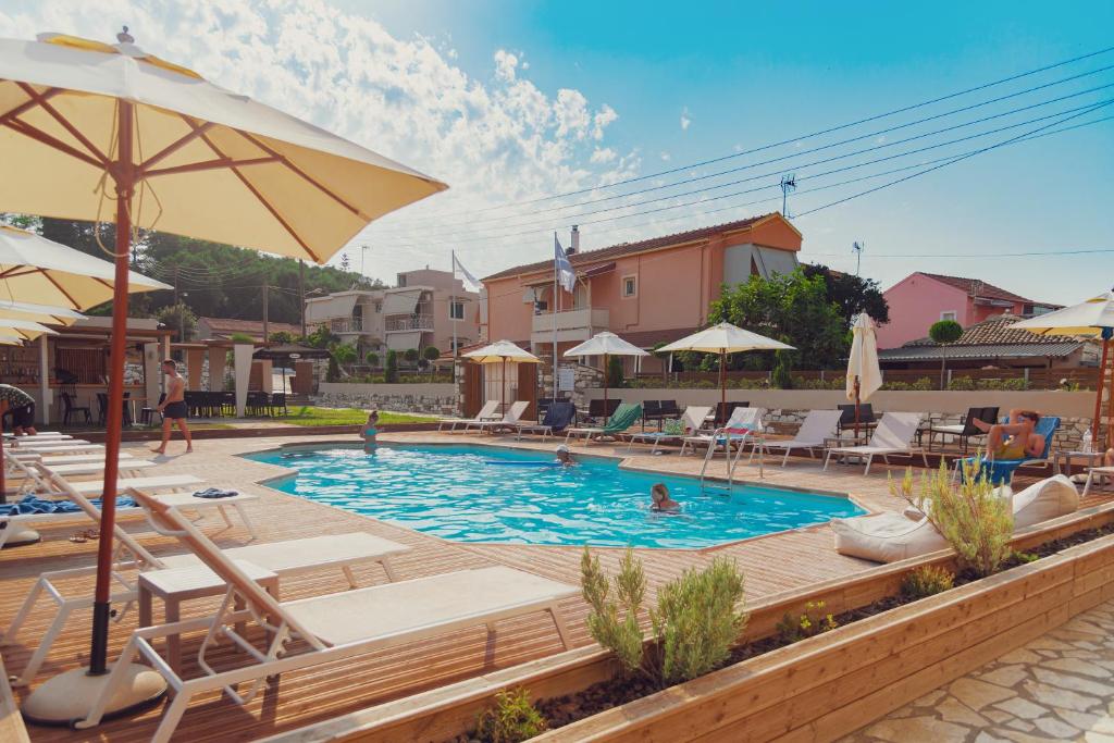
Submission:
M 33 232 L 0 226 L 0 299 L 88 310 L 110 301 L 115 283 L 115 267 L 108 261 Z M 129 292 L 160 289 L 174 287 L 128 272 Z

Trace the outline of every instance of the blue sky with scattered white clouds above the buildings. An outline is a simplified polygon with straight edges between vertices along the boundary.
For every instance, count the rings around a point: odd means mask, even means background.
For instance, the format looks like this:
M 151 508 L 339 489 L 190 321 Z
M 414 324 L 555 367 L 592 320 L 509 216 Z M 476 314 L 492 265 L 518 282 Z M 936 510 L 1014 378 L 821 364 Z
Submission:
M 0 0 L 0 28 L 126 23 L 444 180 L 345 250 L 388 283 L 451 251 L 479 276 L 543 260 L 573 224 L 594 248 L 776 211 L 795 174 L 802 261 L 853 272 L 860 242 L 883 287 L 931 271 L 1045 302 L 1110 289 L 1114 50 L 916 105 L 1114 47 L 1114 3 L 909 6 Z

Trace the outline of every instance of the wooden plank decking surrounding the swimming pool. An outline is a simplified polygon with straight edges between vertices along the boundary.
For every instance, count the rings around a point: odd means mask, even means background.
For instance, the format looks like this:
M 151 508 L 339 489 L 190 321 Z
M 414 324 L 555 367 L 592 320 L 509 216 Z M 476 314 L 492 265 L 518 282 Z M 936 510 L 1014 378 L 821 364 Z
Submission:
M 424 442 L 461 440 L 460 436 L 448 438 L 430 433 L 382 438 Z M 501 564 L 571 584 L 578 581 L 578 548 L 448 542 L 258 486 L 257 481 L 274 477 L 281 470 L 236 456 L 295 441 L 321 443 L 320 438 L 312 437 L 204 441 L 198 443 L 197 453 L 168 458 L 163 472 L 192 472 L 206 477 L 214 485 L 258 493 L 261 499 L 248 504 L 247 508 L 263 541 L 363 530 L 404 542 L 413 549 L 395 560 L 395 569 L 403 579 Z M 502 439 L 499 442 L 507 443 Z M 509 443 L 514 444 L 512 441 Z M 554 446 L 553 442 L 547 442 L 539 448 L 551 450 Z M 141 447 L 128 447 L 128 450 L 136 456 L 144 453 Z M 624 450 L 625 447 L 620 447 L 617 453 L 624 453 Z M 610 447 L 600 444 L 586 449 L 577 447 L 575 451 L 613 453 Z M 628 460 L 627 465 L 676 473 L 693 473 L 698 469 L 698 460 L 695 458 L 678 459 L 675 456 L 639 456 Z M 821 473 L 818 463 L 803 459 L 791 460 L 784 470 L 768 468 L 764 481 L 769 485 L 850 492 L 868 508 L 892 508 L 895 501 L 887 493 L 886 471 L 885 466 L 879 466 L 870 478 L 862 478 L 860 468 L 833 467 L 832 471 Z M 747 477 L 755 476 L 756 470 L 747 470 Z M 1105 496 L 1097 499 L 1105 499 Z M 234 528 L 224 528 L 215 516 L 206 516 L 199 524 L 222 546 L 240 546 L 248 541 L 246 531 L 238 522 Z M 41 571 L 92 564 L 95 541 L 74 544 L 67 540 L 69 535 L 88 526 L 88 522 L 76 521 L 70 527 L 47 528 L 42 530 L 41 544 L 0 553 L 0 626 L 7 626 L 11 620 L 33 578 Z M 180 551 L 174 540 L 150 532 L 141 519 L 128 518 L 124 526 L 129 531 L 140 534 L 143 544 L 157 554 Z M 714 556 L 733 557 L 745 573 L 749 597 L 770 595 L 873 567 L 871 563 L 837 555 L 832 549 L 832 535 L 827 527 L 782 532 L 710 550 L 638 551 L 652 588 L 676 577 L 688 567 L 706 564 Z M 608 567 L 614 567 L 620 556 L 620 550 L 616 549 L 600 549 L 598 553 Z M 362 585 L 385 580 L 378 568 L 358 571 L 358 578 Z M 345 587 L 339 571 L 335 575 L 316 574 L 285 580 L 283 596 L 300 598 L 343 590 Z M 71 581 L 67 588 L 67 593 L 78 592 L 79 595 L 80 592 L 91 593 L 91 579 Z M 204 603 L 197 603 L 188 607 L 185 615 L 201 615 L 205 608 Z M 563 608 L 574 644 L 589 644 L 592 641 L 583 622 L 586 613 L 584 603 L 579 598 L 569 599 L 564 603 Z M 89 619 L 89 612 L 75 616 L 63 637 L 56 643 L 36 684 L 59 671 L 81 664 L 87 657 Z M 110 657 L 119 653 L 128 632 L 135 627 L 135 620 L 136 613 L 133 608 L 119 624 L 113 625 Z M 374 616 L 369 616 L 368 622 L 373 623 Z M 267 693 L 246 707 L 236 706 L 227 698 L 211 694 L 195 700 L 178 726 L 176 740 L 197 743 L 255 740 L 560 649 L 553 624 L 544 614 L 501 623 L 498 629 L 494 645 L 488 643 L 486 629 L 478 627 L 329 666 L 284 674 Z M 23 667 L 43 630 L 45 622 L 40 617 L 38 623 L 30 623 L 21 633 L 21 644 L 0 648 L 9 673 L 18 673 Z M 190 649 L 196 648 L 196 637 L 186 638 L 184 655 L 187 658 Z M 234 666 L 242 664 L 243 657 L 225 651 L 221 663 Z M 187 659 L 187 675 L 192 675 L 194 671 L 190 664 L 192 658 Z M 17 695 L 21 693 L 17 690 Z M 94 731 L 75 732 L 38 726 L 30 726 L 29 731 L 32 741 L 146 741 L 160 713 L 162 707 L 155 707 L 137 716 L 106 722 Z

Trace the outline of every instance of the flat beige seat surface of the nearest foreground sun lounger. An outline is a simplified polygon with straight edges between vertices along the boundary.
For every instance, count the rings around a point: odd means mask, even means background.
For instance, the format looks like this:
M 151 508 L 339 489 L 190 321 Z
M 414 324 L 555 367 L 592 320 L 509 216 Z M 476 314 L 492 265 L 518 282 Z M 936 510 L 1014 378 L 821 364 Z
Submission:
M 409 643 L 520 616 L 578 594 L 574 586 L 499 566 L 283 602 L 282 607 L 329 645 L 382 639 L 385 647 L 393 636 Z

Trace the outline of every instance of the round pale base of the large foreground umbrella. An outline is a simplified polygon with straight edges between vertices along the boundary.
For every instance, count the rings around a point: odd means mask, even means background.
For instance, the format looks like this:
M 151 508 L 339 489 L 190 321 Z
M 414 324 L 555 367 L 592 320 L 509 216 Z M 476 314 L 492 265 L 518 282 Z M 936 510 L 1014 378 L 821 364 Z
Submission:
M 39 725 L 70 725 L 85 718 L 110 674 L 90 676 L 88 668 L 59 674 L 23 702 L 23 718 Z M 128 666 L 127 678 L 105 708 L 105 717 L 128 714 L 157 703 L 166 694 L 166 680 L 139 663 Z

